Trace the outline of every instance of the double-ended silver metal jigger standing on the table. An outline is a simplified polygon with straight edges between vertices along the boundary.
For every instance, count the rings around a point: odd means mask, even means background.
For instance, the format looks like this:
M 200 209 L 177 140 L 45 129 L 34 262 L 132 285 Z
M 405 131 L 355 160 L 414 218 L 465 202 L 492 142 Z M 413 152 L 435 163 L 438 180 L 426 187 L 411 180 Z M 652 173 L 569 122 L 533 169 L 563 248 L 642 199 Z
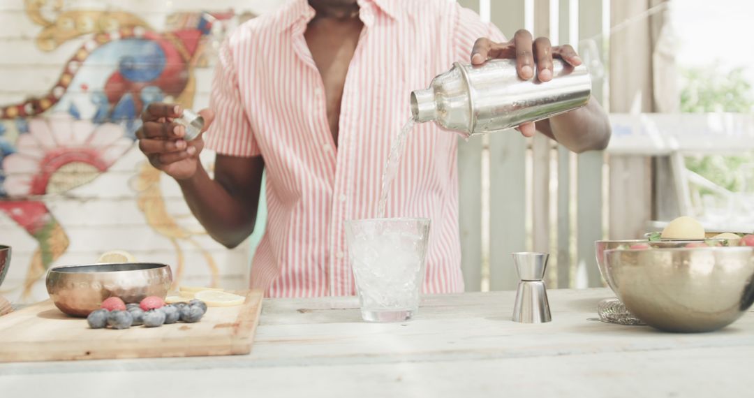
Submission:
M 545 323 L 552 320 L 542 281 L 548 257 L 547 253 L 513 253 L 513 264 L 521 279 L 513 306 L 514 322 Z

